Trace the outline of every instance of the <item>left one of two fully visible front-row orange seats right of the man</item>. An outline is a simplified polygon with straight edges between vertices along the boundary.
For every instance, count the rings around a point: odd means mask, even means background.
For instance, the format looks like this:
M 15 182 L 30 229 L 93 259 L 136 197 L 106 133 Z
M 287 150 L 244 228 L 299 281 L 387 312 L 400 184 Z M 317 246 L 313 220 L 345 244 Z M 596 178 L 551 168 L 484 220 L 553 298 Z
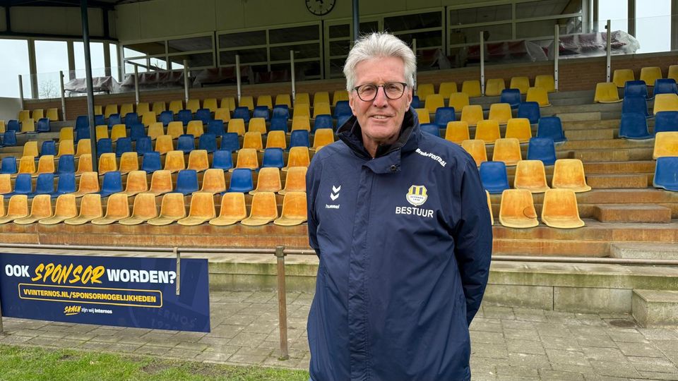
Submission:
M 516 229 L 539 225 L 532 193 L 526 189 L 506 189 L 501 193 L 499 224 Z

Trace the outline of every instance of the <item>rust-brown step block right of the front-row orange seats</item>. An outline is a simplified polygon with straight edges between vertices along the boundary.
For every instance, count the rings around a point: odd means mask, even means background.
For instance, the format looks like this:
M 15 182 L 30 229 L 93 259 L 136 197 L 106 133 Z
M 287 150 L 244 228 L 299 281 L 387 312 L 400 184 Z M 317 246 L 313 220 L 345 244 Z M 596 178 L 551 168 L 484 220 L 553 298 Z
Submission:
M 671 210 L 659 205 L 607 204 L 595 207 L 595 219 L 600 222 L 634 222 L 667 224 Z

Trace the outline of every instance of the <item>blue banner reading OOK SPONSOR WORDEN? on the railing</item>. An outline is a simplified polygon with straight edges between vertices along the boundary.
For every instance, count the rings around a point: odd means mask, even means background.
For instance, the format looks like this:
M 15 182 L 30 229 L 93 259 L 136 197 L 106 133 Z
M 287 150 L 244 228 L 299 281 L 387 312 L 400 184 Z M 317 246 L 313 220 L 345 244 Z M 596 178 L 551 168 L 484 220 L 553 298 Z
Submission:
M 206 259 L 0 253 L 7 317 L 210 332 Z

